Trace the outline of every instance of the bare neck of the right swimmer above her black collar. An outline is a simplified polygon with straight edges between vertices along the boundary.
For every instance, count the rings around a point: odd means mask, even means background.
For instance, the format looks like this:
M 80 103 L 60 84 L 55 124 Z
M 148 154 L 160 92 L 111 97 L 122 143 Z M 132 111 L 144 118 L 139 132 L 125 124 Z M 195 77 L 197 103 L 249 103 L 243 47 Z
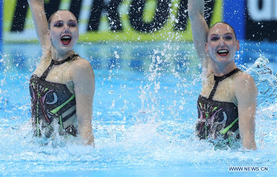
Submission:
M 235 68 L 237 68 L 237 65 L 234 63 L 234 61 L 223 64 L 211 61 L 211 67 L 213 69 L 214 75 L 220 77 L 233 71 Z

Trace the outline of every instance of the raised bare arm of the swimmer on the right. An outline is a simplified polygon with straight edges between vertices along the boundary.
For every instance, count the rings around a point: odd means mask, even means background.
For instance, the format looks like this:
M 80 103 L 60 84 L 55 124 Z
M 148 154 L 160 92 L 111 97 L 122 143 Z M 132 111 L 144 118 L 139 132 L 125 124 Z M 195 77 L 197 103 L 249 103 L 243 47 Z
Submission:
M 204 0 L 189 0 L 188 13 L 191 23 L 193 43 L 202 64 L 202 71 L 204 72 L 207 71 L 209 65 L 209 56 L 205 51 L 206 37 L 209 28 L 204 17 Z

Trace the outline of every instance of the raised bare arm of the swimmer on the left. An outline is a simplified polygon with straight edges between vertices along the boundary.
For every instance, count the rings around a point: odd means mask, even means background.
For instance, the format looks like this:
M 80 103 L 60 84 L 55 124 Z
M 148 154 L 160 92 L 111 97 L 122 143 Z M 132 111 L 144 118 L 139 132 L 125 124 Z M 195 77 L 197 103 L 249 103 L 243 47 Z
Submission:
M 42 54 L 44 56 L 51 53 L 51 42 L 47 38 L 47 29 L 48 22 L 46 19 L 45 11 L 44 11 L 44 1 L 43 0 L 28 0 L 34 25 L 35 32 L 37 34 Z

